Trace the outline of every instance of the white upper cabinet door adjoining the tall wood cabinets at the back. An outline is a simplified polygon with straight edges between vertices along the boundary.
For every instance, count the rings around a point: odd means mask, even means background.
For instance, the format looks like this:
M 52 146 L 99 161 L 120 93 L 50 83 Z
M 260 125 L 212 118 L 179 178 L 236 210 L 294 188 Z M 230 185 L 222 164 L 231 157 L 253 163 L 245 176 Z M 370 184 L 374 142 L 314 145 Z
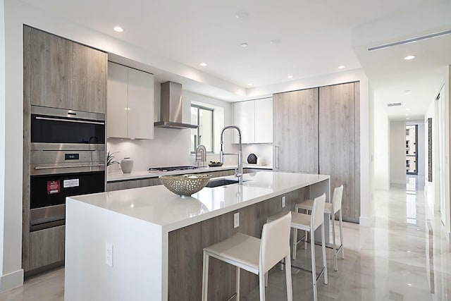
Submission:
M 255 101 L 255 143 L 273 142 L 273 99 Z

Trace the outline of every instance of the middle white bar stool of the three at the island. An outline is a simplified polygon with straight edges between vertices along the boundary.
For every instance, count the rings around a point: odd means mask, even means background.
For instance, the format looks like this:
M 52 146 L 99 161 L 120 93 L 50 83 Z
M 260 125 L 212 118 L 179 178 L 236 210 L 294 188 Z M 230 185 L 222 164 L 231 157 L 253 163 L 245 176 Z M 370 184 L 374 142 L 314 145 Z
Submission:
M 316 264 L 315 264 L 315 244 L 314 240 L 310 243 L 311 249 L 311 278 L 313 279 L 313 296 L 314 300 L 318 300 L 318 293 L 316 291 L 316 283 L 322 274 L 324 274 L 324 284 L 328 283 L 327 277 L 327 264 L 326 264 L 326 241 L 324 240 L 324 204 L 326 203 L 326 194 L 323 193 L 320 197 L 315 197 L 313 201 L 313 208 L 311 211 L 311 215 L 302 214 L 298 212 L 291 212 L 291 228 L 294 228 L 294 242 L 297 240 L 297 230 L 307 231 L 311 233 L 311 237 L 314 237 L 314 232 L 319 226 L 321 226 L 321 245 L 323 250 L 323 268 L 319 272 L 319 275 L 316 276 Z M 281 214 L 285 214 L 282 212 Z M 278 219 L 281 214 L 276 214 L 274 216 L 268 217 L 268 221 L 272 221 L 274 219 Z M 295 243 L 293 242 L 293 247 L 295 247 Z M 293 254 L 295 254 L 295 250 L 293 250 Z M 293 266 L 297 268 L 296 266 Z M 291 269 L 291 266 L 286 266 L 285 269 Z M 301 268 L 297 268 L 301 269 Z M 304 270 L 304 269 L 302 269 Z

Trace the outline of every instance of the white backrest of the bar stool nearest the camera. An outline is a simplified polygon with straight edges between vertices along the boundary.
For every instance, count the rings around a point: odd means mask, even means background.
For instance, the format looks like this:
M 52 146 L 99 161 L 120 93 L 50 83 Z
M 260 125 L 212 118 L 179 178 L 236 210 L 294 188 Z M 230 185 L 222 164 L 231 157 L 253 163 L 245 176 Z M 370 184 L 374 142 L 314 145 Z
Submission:
M 266 273 L 290 254 L 291 212 L 263 225 L 260 242 L 260 271 Z

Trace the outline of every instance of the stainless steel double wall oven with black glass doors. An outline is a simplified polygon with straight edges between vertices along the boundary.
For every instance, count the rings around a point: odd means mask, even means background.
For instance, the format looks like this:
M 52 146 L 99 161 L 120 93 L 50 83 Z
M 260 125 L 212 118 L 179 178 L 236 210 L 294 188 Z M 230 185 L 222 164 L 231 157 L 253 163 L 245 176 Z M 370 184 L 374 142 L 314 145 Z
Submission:
M 105 191 L 105 114 L 31 108 L 30 231 L 63 225 L 66 197 Z

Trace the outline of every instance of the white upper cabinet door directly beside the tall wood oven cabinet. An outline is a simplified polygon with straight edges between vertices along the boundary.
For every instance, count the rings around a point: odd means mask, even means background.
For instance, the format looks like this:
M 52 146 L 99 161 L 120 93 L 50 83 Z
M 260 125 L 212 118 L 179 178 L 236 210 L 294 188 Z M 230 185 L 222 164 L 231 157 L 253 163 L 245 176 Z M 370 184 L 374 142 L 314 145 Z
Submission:
M 106 136 L 127 137 L 128 68 L 108 63 Z

